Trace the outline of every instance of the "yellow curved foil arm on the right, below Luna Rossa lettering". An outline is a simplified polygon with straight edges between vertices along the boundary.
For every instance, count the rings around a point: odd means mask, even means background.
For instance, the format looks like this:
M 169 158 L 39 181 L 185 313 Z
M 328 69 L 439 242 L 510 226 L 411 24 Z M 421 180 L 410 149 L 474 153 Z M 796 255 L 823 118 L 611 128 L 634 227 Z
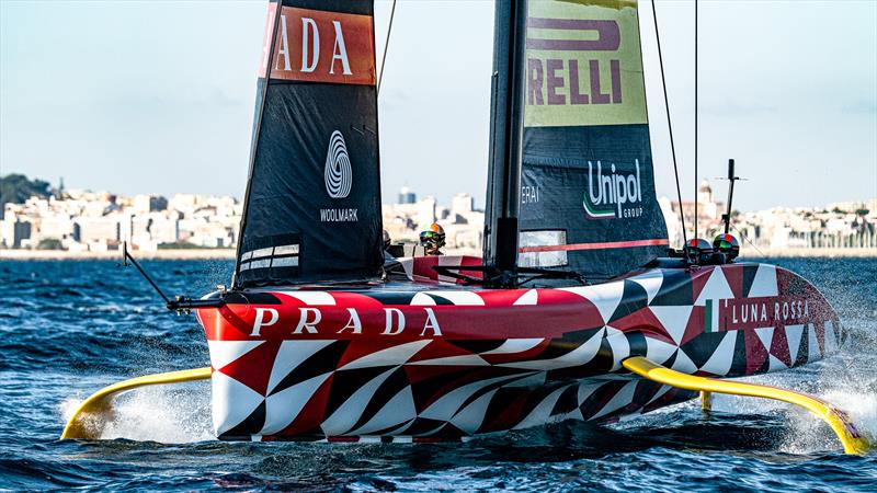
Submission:
M 870 448 L 867 439 L 859 434 L 858 429 L 853 422 L 850 421 L 850 416 L 847 416 L 844 411 L 815 397 L 758 383 L 695 377 L 665 368 L 642 356 L 627 358 L 622 365 L 642 378 L 680 389 L 728 393 L 731 395 L 759 397 L 800 405 L 801 408 L 810 410 L 810 412 L 831 426 L 831 429 L 838 435 L 841 444 L 843 444 L 844 452 L 865 454 Z

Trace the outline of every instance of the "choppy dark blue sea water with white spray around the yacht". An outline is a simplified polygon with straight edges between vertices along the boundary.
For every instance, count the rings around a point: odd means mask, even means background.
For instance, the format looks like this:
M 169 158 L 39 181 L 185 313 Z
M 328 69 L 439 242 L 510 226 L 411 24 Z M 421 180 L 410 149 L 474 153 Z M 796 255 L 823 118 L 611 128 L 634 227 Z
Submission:
M 833 400 L 877 435 L 877 260 L 781 260 L 852 331 L 842 355 L 759 381 Z M 228 280 L 226 262 L 145 262 L 171 293 Z M 194 317 L 168 313 L 113 262 L 0 262 L 0 489 L 875 491 L 877 454 L 844 456 L 784 404 L 718 397 L 611 427 L 560 424 L 466 444 L 213 439 L 209 386 L 133 392 L 103 442 L 60 442 L 111 382 L 209 364 Z

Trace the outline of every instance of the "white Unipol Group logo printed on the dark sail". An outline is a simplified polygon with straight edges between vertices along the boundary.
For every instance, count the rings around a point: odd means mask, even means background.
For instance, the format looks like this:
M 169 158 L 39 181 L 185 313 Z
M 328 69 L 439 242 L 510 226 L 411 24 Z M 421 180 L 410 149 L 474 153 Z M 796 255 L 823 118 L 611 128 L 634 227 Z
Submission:
M 633 173 L 615 172 L 615 164 L 608 170 L 597 161 L 596 167 L 588 161 L 588 191 L 582 206 L 591 219 L 618 219 L 642 216 L 642 186 L 639 180 L 639 160 L 635 161 Z M 596 173 L 594 173 L 596 168 Z M 605 175 L 604 171 L 607 171 Z

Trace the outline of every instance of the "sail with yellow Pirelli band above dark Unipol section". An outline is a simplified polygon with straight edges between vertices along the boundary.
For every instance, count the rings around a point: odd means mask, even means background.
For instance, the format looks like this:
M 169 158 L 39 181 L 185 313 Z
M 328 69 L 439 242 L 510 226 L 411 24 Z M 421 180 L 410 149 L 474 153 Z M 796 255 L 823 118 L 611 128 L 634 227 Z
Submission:
M 531 0 L 522 266 L 610 278 L 664 254 L 637 4 Z

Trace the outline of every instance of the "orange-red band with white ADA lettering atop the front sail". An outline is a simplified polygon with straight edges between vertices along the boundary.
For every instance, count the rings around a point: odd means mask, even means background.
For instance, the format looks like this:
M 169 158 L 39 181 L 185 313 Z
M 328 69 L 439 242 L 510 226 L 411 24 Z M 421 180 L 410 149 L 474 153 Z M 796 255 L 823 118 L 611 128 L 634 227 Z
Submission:
M 273 28 L 273 12 L 266 30 Z M 272 79 L 375 84 L 372 16 L 284 7 L 274 42 Z M 271 53 L 265 35 L 259 77 Z

